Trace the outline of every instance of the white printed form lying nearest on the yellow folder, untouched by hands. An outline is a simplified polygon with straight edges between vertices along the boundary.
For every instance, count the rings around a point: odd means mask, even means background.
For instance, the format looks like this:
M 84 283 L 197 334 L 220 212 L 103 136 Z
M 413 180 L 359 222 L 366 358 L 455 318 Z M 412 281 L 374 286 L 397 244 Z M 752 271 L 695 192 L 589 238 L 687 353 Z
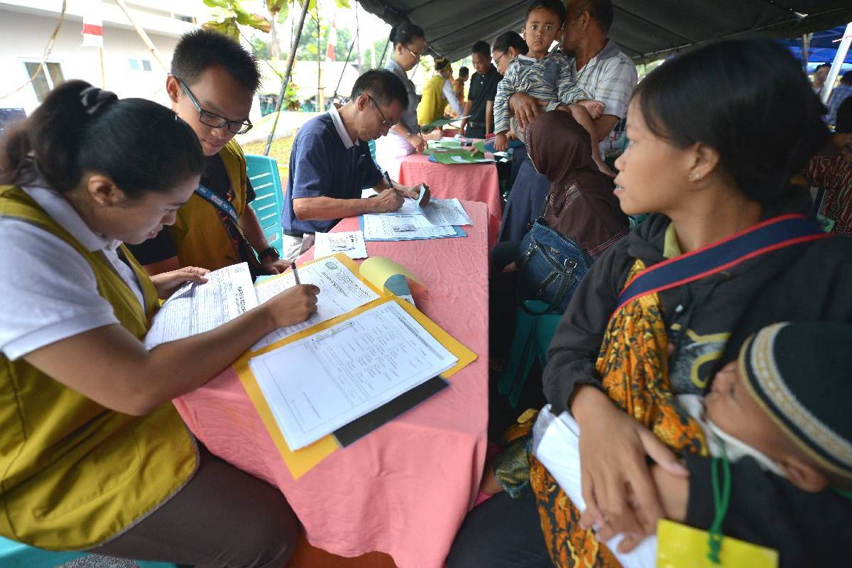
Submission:
M 249 364 L 287 445 L 297 450 L 457 361 L 389 302 Z

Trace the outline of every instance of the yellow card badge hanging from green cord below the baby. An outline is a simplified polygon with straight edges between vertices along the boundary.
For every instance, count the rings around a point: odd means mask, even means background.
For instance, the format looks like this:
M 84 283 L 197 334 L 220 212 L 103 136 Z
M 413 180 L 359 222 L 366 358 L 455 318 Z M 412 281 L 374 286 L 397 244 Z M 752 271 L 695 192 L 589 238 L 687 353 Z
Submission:
M 657 524 L 658 568 L 777 568 L 778 552 L 725 536 L 720 564 L 707 558 L 710 533 L 671 520 Z

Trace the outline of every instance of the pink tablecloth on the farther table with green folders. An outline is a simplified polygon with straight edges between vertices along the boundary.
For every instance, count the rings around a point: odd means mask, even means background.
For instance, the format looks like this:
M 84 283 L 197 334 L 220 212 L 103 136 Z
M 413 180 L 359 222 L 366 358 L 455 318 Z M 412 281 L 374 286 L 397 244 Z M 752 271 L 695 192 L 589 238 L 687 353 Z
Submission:
M 497 243 L 503 208 L 500 184 L 494 164 L 438 164 L 429 156 L 409 154 L 400 164 L 400 183 L 425 183 L 436 198 L 481 201 L 488 206 L 488 244 Z

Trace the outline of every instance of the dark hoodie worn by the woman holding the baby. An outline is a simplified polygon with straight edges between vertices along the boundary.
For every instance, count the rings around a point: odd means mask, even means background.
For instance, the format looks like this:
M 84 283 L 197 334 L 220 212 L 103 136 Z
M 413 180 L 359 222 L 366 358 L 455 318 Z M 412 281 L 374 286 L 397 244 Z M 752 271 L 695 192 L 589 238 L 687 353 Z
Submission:
M 794 189 L 785 203 L 766 207 L 763 219 L 809 215 L 809 210 L 806 193 Z M 544 370 L 544 395 L 555 413 L 567 409 L 577 387 L 601 387 L 595 362 L 619 293 L 636 258 L 646 267 L 664 260 L 670 223 L 665 215 L 650 215 L 607 250 L 579 285 L 550 344 Z M 852 323 L 850 290 L 852 238 L 835 237 L 775 250 L 661 292 L 663 318 L 675 346 L 669 359 L 673 389 L 678 394 L 706 393 L 716 371 L 736 359 L 746 338 L 765 325 Z M 706 530 L 713 516 L 710 461 L 688 456 L 687 467 L 687 523 Z M 831 491 L 800 491 L 786 479 L 764 473 L 751 459 L 732 464 L 732 470 L 726 535 L 779 549 L 781 565 L 832 565 L 838 551 L 852 553 L 852 501 Z

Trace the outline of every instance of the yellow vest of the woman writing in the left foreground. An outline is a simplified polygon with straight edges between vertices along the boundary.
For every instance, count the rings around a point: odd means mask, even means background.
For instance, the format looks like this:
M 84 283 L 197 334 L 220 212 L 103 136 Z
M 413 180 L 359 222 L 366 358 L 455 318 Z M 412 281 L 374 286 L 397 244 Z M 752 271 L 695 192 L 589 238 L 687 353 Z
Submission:
M 102 253 L 86 250 L 19 187 L 0 186 L 0 216 L 32 223 L 70 244 L 89 262 L 118 321 L 134 336 L 145 336 L 157 292 L 124 244 L 147 313 Z M 53 550 L 95 547 L 186 484 L 197 456 L 173 404 L 128 416 L 24 359 L 10 361 L 0 353 L 0 535 Z

